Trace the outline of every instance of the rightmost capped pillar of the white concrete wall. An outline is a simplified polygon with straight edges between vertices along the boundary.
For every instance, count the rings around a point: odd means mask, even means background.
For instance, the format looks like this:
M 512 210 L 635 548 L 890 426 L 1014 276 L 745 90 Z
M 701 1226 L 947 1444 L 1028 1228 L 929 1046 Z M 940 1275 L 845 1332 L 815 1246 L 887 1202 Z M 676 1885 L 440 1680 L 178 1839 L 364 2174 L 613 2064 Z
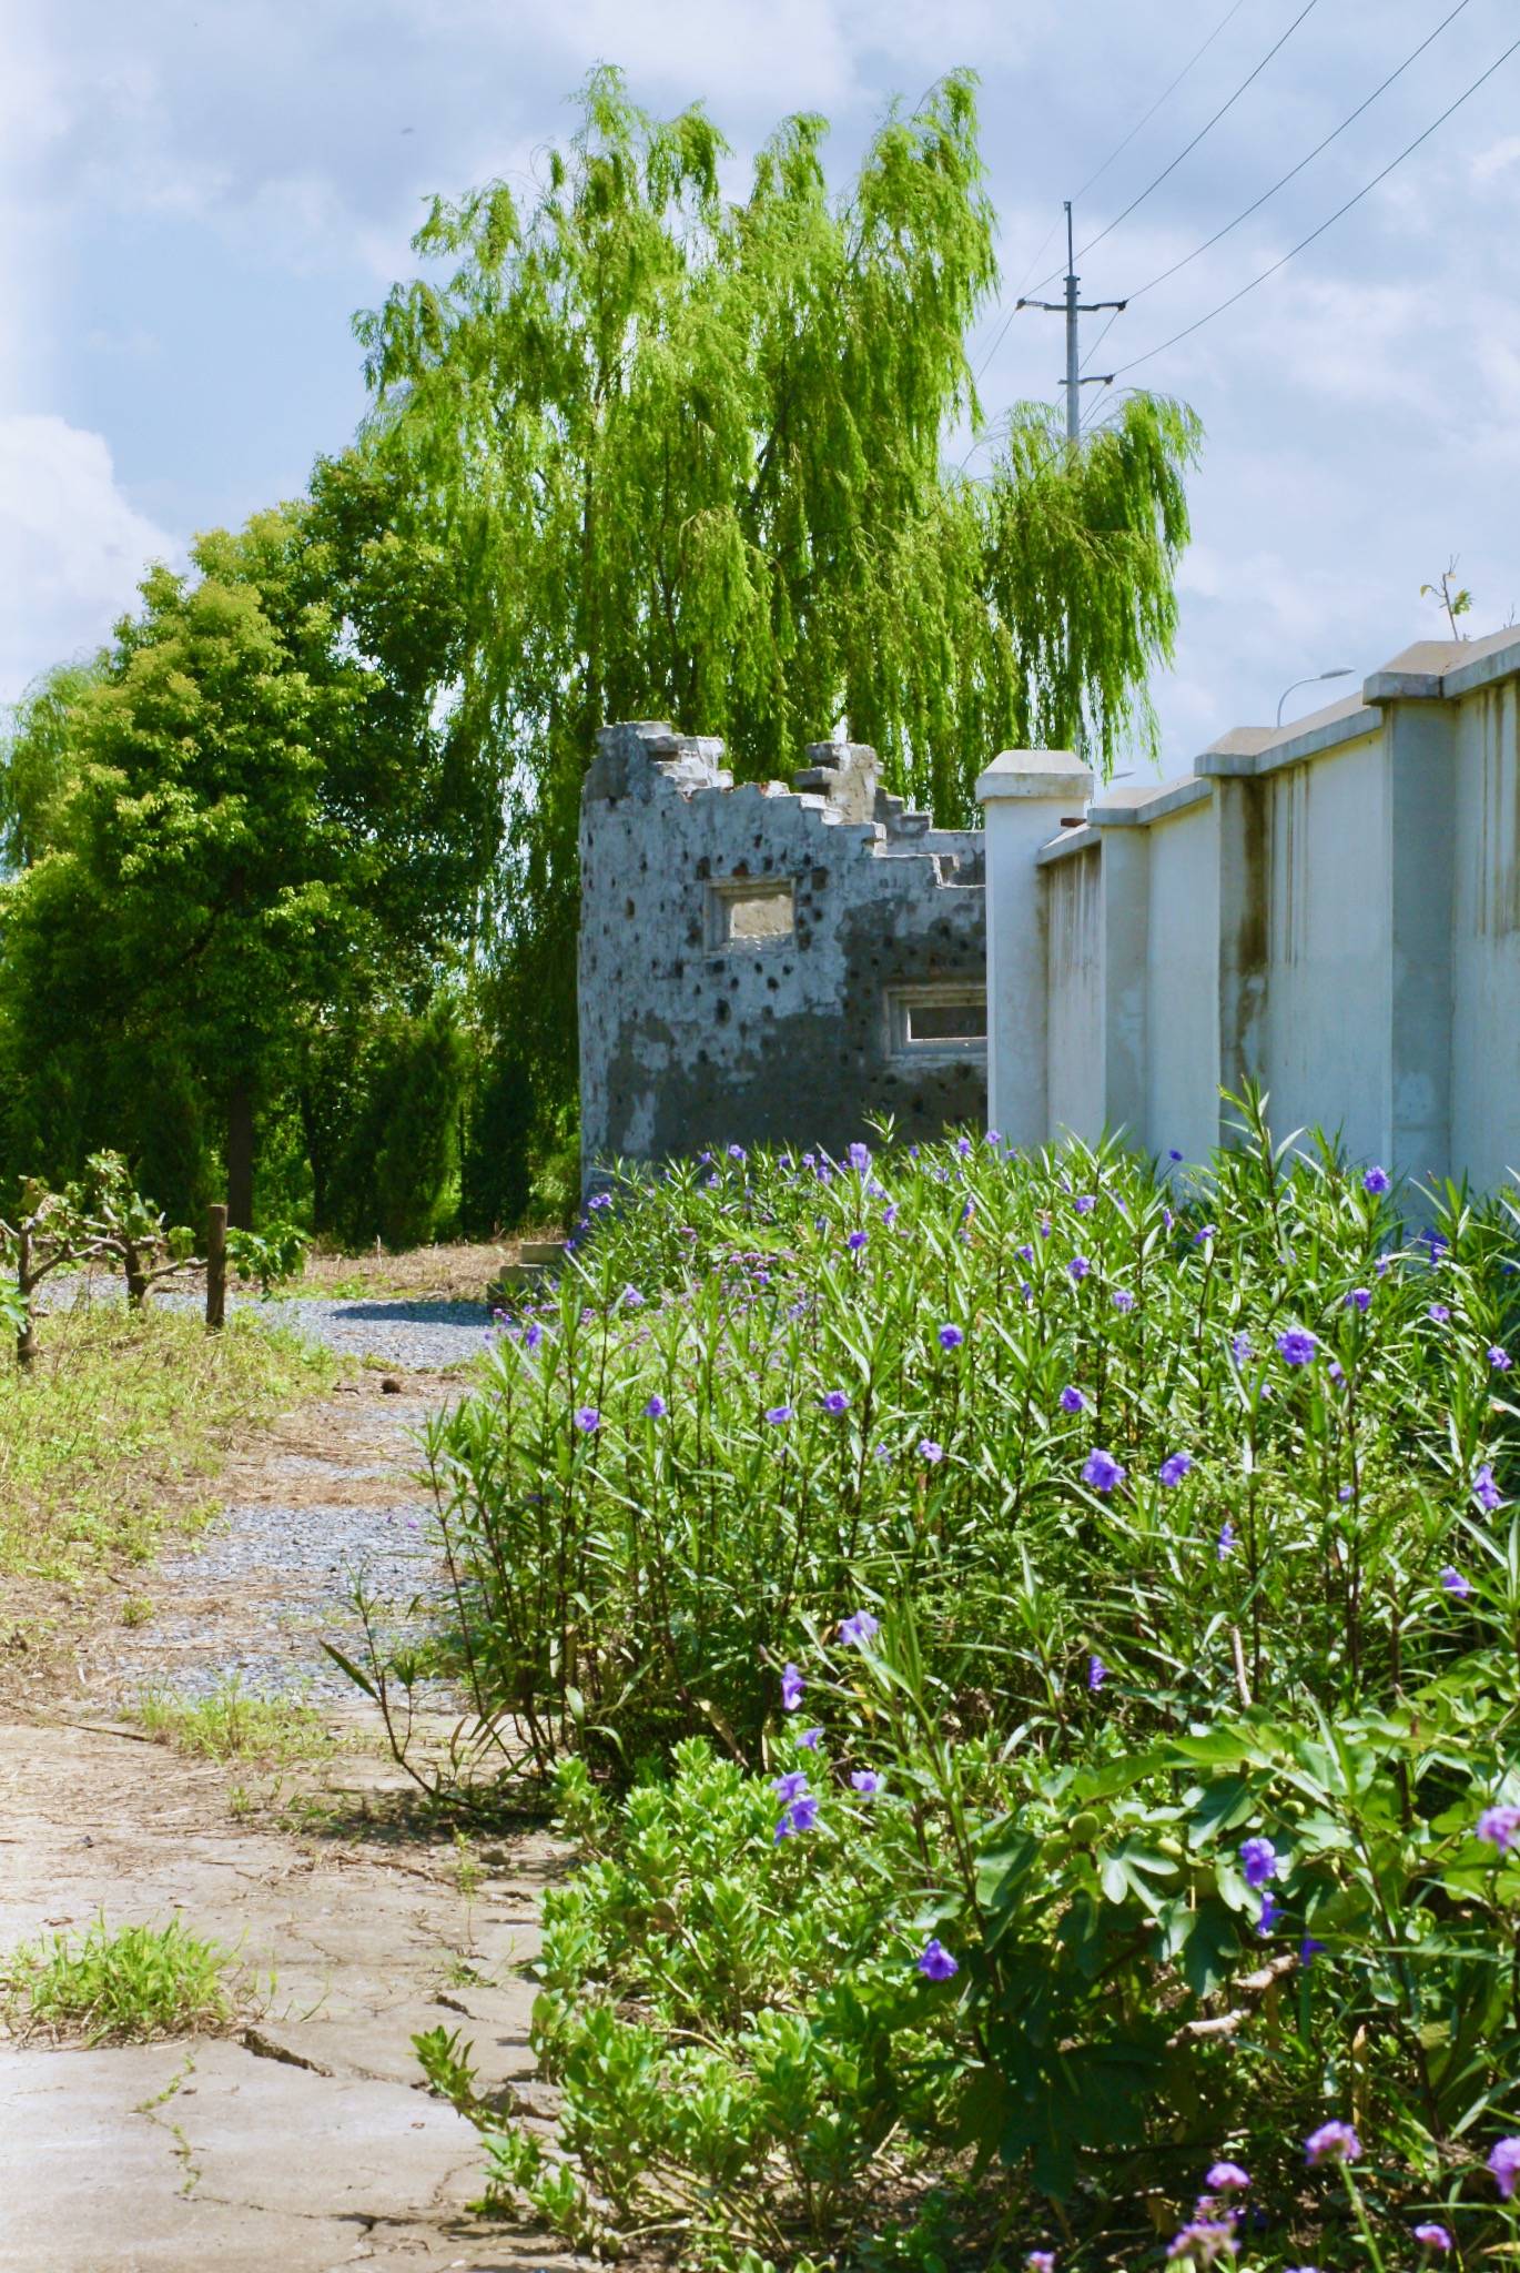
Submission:
M 1452 1173 L 1452 891 L 1456 864 L 1456 705 L 1440 680 L 1379 673 L 1384 711 L 1384 875 L 1390 948 L 1388 1168 L 1420 1182 Z

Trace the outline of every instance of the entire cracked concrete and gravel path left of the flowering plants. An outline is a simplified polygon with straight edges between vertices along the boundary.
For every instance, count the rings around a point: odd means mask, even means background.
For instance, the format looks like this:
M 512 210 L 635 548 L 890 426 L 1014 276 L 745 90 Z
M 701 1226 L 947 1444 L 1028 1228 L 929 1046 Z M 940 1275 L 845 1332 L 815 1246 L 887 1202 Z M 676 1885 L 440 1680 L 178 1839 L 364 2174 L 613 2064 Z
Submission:
M 0 1950 L 177 1916 L 236 1953 L 245 1993 L 227 2037 L 0 2039 L 5 2273 L 573 2264 L 468 2216 L 479 2143 L 411 2053 L 459 2025 L 484 2078 L 543 2112 L 523 1968 L 563 1855 L 541 1832 L 479 1839 L 461 1873 L 316 1641 L 357 1562 L 402 1591 L 425 1575 L 407 1430 L 441 1389 L 359 1375 L 239 1452 L 223 1527 L 148 1580 L 152 1621 L 89 1652 L 77 1696 L 0 1725 Z M 332 1755 L 207 1764 L 123 1718 L 145 1682 L 195 1696 L 229 1673 L 314 1696 Z

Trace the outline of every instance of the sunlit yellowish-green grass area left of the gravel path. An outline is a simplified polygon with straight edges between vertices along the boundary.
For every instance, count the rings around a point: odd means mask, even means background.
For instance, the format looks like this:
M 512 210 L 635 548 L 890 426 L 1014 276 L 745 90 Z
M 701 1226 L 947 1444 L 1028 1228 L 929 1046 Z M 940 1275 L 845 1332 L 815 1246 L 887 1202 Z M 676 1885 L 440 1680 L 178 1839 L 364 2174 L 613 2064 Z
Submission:
M 334 1359 L 234 1318 L 80 1305 L 41 1323 L 27 1375 L 0 1357 L 0 1577 L 80 1584 L 152 1557 L 175 1491 L 216 1471 L 236 1430 L 325 1389 Z

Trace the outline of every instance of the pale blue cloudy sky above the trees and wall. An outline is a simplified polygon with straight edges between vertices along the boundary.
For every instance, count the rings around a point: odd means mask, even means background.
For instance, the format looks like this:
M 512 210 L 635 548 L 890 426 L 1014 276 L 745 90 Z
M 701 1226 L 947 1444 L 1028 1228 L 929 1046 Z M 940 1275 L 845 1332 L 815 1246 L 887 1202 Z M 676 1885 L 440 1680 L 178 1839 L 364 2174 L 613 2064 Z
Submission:
M 1293 182 L 1143 291 L 1454 7 Z M 1077 245 L 1102 232 L 1081 295 L 1134 295 L 1102 343 L 1106 318 L 1084 318 L 1093 373 L 1204 423 L 1177 659 L 1152 686 L 1161 766 L 1186 771 L 1270 723 L 1293 680 L 1440 636 L 1420 586 L 1454 555 L 1472 632 L 1520 609 L 1520 52 L 1277 275 L 1147 352 L 1318 230 L 1518 34 L 1515 0 L 9 0 L 0 702 L 98 646 L 150 559 L 295 496 L 350 439 L 352 314 L 418 273 L 432 193 L 529 180 L 593 64 L 657 114 L 702 100 L 736 193 L 788 111 L 832 120 L 843 186 L 893 98 L 970 66 L 1002 266 L 972 343 L 988 414 L 1057 396 L 1061 323 L 1013 302 L 1059 295 L 1075 198 Z M 1091 418 L 1113 400 L 1084 389 Z M 1288 716 L 1345 691 L 1302 689 Z

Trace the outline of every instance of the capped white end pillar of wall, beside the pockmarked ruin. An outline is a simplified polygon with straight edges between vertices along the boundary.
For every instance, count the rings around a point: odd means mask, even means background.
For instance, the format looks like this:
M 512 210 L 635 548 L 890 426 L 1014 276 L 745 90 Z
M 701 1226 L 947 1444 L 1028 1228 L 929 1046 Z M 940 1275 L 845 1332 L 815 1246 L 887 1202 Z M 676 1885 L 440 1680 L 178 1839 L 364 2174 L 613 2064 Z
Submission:
M 986 1118 L 1011 1146 L 1050 1143 L 1045 893 L 1034 855 L 1081 814 L 1093 775 L 1070 750 L 1002 750 L 977 782 L 986 827 Z

